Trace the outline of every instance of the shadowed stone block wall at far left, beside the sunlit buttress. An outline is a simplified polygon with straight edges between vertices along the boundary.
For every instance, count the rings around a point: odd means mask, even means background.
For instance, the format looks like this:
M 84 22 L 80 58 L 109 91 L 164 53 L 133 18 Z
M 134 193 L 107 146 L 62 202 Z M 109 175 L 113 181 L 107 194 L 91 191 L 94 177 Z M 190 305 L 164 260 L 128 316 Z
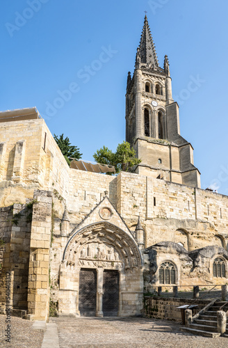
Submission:
M 4 284 L 6 273 L 10 272 L 12 283 L 12 304 L 14 308 L 27 308 L 29 251 L 31 232 L 31 209 L 27 205 L 14 204 L 0 209 L 0 239 L 3 240 L 4 253 L 1 262 L 1 282 Z M 1 287 L 0 302 L 4 303 Z

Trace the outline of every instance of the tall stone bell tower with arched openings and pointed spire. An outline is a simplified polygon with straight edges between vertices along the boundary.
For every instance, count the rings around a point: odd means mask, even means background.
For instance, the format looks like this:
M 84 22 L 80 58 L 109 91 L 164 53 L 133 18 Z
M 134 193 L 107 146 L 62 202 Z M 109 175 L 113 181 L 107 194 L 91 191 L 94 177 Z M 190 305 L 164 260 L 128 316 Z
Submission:
M 159 66 L 145 15 L 136 65 L 127 77 L 126 141 L 142 160 L 134 173 L 200 187 L 193 147 L 180 135 L 179 106 L 172 99 L 168 56 Z

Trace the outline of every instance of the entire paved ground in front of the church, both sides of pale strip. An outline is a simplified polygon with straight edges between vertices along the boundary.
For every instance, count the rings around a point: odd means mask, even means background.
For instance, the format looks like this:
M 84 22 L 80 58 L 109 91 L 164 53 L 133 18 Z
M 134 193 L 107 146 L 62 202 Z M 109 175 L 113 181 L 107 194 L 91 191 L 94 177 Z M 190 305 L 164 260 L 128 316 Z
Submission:
M 4 342 L 5 316 L 0 315 L 0 347 L 58 348 L 34 331 L 32 322 L 12 318 L 11 343 Z M 56 327 L 57 326 L 57 327 Z M 51 318 L 47 328 L 58 332 L 60 348 L 227 348 L 228 338 L 203 338 L 180 331 L 174 322 L 144 318 Z M 48 330 L 46 331 L 48 333 Z M 47 344 L 48 343 L 48 344 Z

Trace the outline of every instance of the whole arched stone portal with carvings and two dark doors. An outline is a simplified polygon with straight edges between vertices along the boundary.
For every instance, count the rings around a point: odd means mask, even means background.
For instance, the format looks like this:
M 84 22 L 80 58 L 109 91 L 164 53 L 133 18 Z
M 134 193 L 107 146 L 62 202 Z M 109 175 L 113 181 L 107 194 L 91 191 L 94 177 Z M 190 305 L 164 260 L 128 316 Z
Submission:
M 81 296 L 86 296 L 90 285 L 91 291 L 95 292 L 95 299 L 89 303 L 91 313 L 102 317 L 104 303 L 106 311 L 107 308 L 117 308 L 116 303 L 107 305 L 113 286 L 107 282 L 118 284 L 119 293 L 115 292 L 118 310 L 115 315 L 138 313 L 143 290 L 142 258 L 138 245 L 130 234 L 105 221 L 75 232 L 67 243 L 60 266 L 60 313 L 61 310 L 74 315 L 81 315 L 80 311 L 87 313 L 80 300 Z M 125 301 L 127 294 L 131 294 L 132 298 Z M 96 303 L 96 308 L 91 307 L 92 303 Z

